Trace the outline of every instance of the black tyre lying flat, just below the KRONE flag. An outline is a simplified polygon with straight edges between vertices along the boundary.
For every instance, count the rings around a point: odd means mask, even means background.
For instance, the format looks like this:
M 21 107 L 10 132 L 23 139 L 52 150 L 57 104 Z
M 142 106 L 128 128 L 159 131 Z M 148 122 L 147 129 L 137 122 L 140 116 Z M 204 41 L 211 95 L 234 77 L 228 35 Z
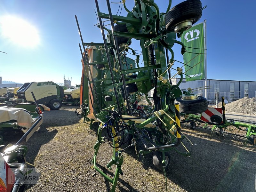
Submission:
M 182 100 L 181 97 L 175 99 L 179 103 L 181 113 L 202 113 L 208 108 L 208 101 L 205 97 L 198 96 L 195 100 Z

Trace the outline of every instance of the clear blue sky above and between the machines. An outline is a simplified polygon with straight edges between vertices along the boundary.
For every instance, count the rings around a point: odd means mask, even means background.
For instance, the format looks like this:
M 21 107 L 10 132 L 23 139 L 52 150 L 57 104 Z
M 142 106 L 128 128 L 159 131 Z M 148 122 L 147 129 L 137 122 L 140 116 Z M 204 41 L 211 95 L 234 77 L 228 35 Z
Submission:
M 110 2 L 120 2 L 110 0 Z M 133 0 L 126 0 L 132 9 Z M 165 12 L 168 1 L 155 0 L 160 12 Z M 172 7 L 180 3 L 172 1 Z M 106 1 L 99 0 L 100 11 L 107 13 Z M 206 1 L 202 18 L 207 20 L 207 78 L 256 81 L 255 1 Z M 118 4 L 111 4 L 116 14 Z M 21 18 L 38 31 L 39 43 L 34 47 L 14 43 L 3 35 L 0 19 L 0 72 L 3 80 L 20 83 L 32 81 L 63 82 L 72 76 L 72 85 L 80 84 L 82 64 L 76 26 L 78 17 L 84 42 L 102 43 L 100 29 L 96 26 L 96 9 L 93 0 L 0 0 L 0 18 L 12 15 Z M 121 15 L 126 12 L 122 9 Z M 109 26 L 108 26 L 109 27 Z M 18 27 L 15 29 L 20 30 Z M 179 39 L 178 39 L 179 40 Z M 138 50 L 138 42 L 132 42 Z M 173 47 L 174 59 L 183 61 L 180 46 Z M 179 65 L 175 63 L 175 67 Z

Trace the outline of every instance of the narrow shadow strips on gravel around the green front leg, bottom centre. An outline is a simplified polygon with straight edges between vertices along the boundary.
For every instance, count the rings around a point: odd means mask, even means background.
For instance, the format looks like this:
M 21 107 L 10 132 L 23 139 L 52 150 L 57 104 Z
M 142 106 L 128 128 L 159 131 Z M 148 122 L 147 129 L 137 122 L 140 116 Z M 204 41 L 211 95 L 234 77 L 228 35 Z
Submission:
M 100 164 L 97 164 L 97 166 L 98 166 L 104 173 L 106 173 L 106 174 L 108 174 L 108 175 L 111 175 L 111 177 L 113 177 L 113 173 L 110 172 L 110 171 L 108 171 L 108 169 L 106 169 L 105 167 L 101 166 Z M 122 183 L 125 187 L 128 188 L 128 190 L 127 190 L 127 189 L 124 189 L 124 188 L 122 188 L 120 185 L 118 185 L 118 182 Z M 138 191 L 138 190 L 132 188 L 131 185 L 129 185 L 129 184 L 128 184 L 127 182 L 125 182 L 124 180 L 122 180 L 120 177 L 119 177 L 119 179 L 118 179 L 118 182 L 117 182 L 117 186 L 118 186 L 119 190 L 122 191 L 122 192 L 129 192 L 129 191 L 131 191 L 131 192 L 140 192 L 140 191 Z M 110 191 L 110 189 L 111 189 L 111 187 L 112 187 L 112 184 L 109 184 L 109 181 L 106 180 L 106 179 L 105 179 L 105 185 L 106 185 L 106 188 L 108 189 L 108 191 Z

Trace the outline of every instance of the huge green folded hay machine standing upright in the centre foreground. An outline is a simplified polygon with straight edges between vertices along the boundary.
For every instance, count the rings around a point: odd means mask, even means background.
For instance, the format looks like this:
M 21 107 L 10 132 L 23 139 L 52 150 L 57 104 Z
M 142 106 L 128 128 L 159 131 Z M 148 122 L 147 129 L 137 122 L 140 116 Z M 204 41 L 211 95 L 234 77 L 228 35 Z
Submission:
M 103 43 L 84 43 L 76 17 L 83 58 L 79 110 L 85 121 L 91 121 L 91 128 L 93 120 L 99 121 L 92 163 L 95 170 L 113 184 L 111 191 L 115 191 L 119 175 L 123 174 L 122 152 L 140 141 L 145 149 L 139 150 L 139 154 L 144 156 L 155 151 L 153 164 L 164 174 L 171 162 L 169 151 L 190 156 L 189 151 L 180 152 L 175 148 L 180 143 L 184 146 L 183 139 L 188 140 L 180 131 L 180 112 L 202 113 L 208 107 L 206 98 L 187 90 L 181 92 L 179 85 L 186 75 L 182 70 L 185 63 L 175 69 L 180 76 L 178 84 L 172 85 L 170 72 L 175 61 L 172 46 L 179 44 L 181 54 L 186 52 L 184 44 L 177 39 L 201 18 L 201 2 L 188 0 L 170 10 L 170 0 L 164 13 L 159 12 L 153 0 L 134 2 L 135 6 L 128 10 L 123 1 L 127 12 L 124 17 L 112 15 L 109 0 L 108 13 L 100 12 L 95 0 Z M 110 22 L 112 30 L 103 26 L 103 19 Z M 133 41 L 140 42 L 141 51 L 132 48 Z M 127 54 L 135 59 L 128 58 Z M 154 93 L 149 100 L 147 94 L 151 90 Z M 148 105 L 138 103 L 140 95 L 145 95 Z M 98 150 L 106 142 L 113 148 L 107 168 L 116 165 L 114 178 L 96 166 Z

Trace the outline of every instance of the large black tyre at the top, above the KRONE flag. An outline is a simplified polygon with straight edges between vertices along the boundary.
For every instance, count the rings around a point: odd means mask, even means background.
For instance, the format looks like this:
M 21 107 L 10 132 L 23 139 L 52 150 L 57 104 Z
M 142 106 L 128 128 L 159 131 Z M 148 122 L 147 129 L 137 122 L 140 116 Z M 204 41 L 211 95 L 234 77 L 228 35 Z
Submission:
M 196 23 L 202 16 L 202 3 L 200 0 L 188 0 L 174 6 L 165 16 L 167 31 L 174 31 L 174 26 L 185 20 Z

